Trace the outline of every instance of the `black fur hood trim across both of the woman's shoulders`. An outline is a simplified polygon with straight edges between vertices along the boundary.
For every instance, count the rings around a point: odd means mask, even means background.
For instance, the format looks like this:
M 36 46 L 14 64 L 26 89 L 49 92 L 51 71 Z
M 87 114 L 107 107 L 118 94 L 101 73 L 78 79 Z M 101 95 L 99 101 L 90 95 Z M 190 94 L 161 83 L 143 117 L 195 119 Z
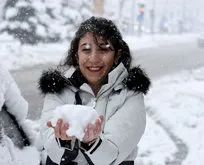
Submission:
M 70 78 L 64 76 L 64 73 L 57 69 L 49 69 L 43 71 L 38 86 L 43 94 L 47 93 L 61 93 L 64 88 L 68 86 L 75 86 L 79 88 L 86 79 L 82 76 L 81 72 L 75 70 Z M 132 68 L 128 72 L 128 76 L 123 79 L 123 84 L 130 90 L 146 94 L 150 87 L 150 79 L 147 74 L 139 66 Z

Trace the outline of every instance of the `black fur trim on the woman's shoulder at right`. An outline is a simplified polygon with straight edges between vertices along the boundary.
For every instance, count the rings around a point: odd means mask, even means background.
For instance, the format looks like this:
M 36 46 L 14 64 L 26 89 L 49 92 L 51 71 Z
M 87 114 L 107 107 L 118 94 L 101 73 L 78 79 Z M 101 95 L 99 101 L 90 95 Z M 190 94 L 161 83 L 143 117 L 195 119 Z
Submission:
M 151 85 L 149 77 L 140 67 L 132 68 L 123 82 L 130 90 L 143 94 L 147 94 Z

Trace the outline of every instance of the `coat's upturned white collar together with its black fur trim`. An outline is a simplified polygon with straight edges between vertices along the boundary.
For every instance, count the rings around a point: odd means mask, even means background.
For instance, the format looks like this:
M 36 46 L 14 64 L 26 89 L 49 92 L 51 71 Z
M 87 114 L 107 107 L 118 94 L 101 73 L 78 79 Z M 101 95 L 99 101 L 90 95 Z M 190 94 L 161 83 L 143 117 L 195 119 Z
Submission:
M 111 85 L 114 85 L 117 88 L 117 85 L 121 84 L 121 82 L 124 87 L 143 94 L 148 92 L 151 84 L 150 79 L 139 66 L 134 67 L 127 72 L 126 68 L 121 63 L 108 74 L 102 88 L 107 89 Z M 71 68 L 65 73 L 62 73 L 59 70 L 49 69 L 42 73 L 38 86 L 43 94 L 60 94 L 69 86 L 74 86 L 79 89 L 84 83 L 87 83 L 86 79 L 81 72 L 75 68 Z

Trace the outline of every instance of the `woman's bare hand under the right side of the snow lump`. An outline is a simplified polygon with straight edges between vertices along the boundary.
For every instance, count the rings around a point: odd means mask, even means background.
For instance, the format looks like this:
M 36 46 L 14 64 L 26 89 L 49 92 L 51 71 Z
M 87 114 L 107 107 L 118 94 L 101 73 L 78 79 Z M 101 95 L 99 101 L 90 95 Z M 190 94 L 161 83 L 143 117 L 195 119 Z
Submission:
M 90 143 L 99 137 L 102 130 L 103 120 L 104 120 L 104 117 L 101 115 L 99 116 L 98 119 L 96 119 L 95 125 L 90 123 L 87 125 L 85 129 L 85 135 L 83 138 L 84 143 Z

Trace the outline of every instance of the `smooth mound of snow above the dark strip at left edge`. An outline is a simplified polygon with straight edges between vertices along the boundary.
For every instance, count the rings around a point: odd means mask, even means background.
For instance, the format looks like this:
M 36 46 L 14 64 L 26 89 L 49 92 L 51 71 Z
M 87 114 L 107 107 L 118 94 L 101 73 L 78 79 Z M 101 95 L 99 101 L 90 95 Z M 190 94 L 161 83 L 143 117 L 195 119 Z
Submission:
M 7 70 L 4 70 L 6 90 L 4 94 L 8 111 L 21 123 L 28 114 L 28 102 L 21 95 L 20 89 Z

